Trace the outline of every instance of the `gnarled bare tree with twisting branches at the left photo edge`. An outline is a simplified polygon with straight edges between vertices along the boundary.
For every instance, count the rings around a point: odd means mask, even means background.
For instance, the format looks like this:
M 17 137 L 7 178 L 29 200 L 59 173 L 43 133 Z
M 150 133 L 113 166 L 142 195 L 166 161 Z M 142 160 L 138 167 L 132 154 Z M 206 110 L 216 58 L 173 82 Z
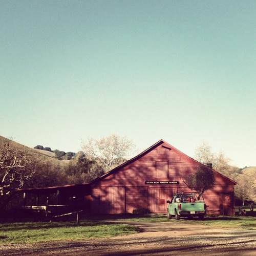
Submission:
M 32 168 L 31 162 L 31 155 L 25 147 L 15 147 L 11 142 L 0 146 L 1 196 L 21 188 L 33 176 L 35 169 Z

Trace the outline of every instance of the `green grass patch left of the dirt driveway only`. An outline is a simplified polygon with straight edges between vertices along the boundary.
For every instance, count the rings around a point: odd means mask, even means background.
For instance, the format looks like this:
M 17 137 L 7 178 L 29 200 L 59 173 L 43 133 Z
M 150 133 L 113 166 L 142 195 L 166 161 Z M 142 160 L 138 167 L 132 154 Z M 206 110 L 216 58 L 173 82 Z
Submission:
M 0 223 L 0 243 L 34 243 L 56 240 L 110 238 L 139 232 L 139 228 L 127 224 L 82 221 Z

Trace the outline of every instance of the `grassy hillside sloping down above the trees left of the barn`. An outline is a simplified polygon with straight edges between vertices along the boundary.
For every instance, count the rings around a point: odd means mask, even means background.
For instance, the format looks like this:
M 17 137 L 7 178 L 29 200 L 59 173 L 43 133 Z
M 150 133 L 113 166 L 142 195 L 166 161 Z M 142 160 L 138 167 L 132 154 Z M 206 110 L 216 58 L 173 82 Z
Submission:
M 3 145 L 6 142 L 11 142 L 16 147 L 24 147 L 25 145 L 19 144 L 13 140 L 7 139 L 3 136 L 0 136 L 0 145 Z M 69 160 L 58 160 L 54 158 L 55 154 L 53 152 L 44 151 L 44 150 L 35 150 L 34 148 L 25 146 L 30 154 L 32 154 L 38 161 L 42 163 L 51 162 L 53 164 L 67 165 Z

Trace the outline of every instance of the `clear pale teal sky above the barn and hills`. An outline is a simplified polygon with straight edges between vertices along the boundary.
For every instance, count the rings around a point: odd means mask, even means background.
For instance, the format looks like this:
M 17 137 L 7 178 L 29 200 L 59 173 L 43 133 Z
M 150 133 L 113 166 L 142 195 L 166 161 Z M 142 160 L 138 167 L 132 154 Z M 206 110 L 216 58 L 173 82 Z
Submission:
M 0 1 L 0 135 L 117 134 L 256 166 L 256 1 Z

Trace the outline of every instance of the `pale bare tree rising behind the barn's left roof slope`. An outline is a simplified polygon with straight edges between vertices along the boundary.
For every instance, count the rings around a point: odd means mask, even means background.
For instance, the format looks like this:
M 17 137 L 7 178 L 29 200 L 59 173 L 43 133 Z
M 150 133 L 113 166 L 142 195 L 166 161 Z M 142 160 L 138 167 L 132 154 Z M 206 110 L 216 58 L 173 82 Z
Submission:
M 120 164 L 134 148 L 132 140 L 118 135 L 110 135 L 100 140 L 88 138 L 82 142 L 82 150 L 89 159 L 97 159 L 105 166 L 105 172 Z

